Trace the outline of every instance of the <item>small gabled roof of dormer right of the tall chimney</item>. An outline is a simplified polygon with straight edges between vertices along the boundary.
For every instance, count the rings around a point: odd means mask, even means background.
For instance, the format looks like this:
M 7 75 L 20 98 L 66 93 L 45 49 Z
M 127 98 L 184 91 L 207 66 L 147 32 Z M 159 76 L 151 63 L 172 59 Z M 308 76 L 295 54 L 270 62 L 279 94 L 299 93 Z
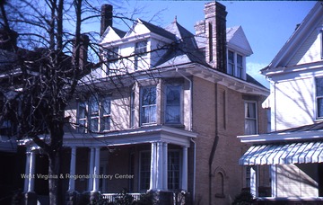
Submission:
M 227 28 L 226 33 L 228 48 L 234 49 L 246 56 L 253 54 L 249 41 L 241 26 Z

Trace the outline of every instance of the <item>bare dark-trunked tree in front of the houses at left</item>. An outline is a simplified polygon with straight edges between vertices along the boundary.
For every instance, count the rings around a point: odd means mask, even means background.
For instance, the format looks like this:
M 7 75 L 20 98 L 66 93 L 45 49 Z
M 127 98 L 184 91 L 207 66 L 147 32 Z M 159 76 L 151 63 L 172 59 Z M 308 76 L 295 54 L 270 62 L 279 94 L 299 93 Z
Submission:
M 49 175 L 61 173 L 65 107 L 80 78 L 93 66 L 87 61 L 85 48 L 89 38 L 81 34 L 82 15 L 90 11 L 96 15 L 83 0 L 22 0 L 1 4 L 1 27 L 6 40 L 13 45 L 10 55 L 6 52 L 3 56 L 12 61 L 1 70 L 1 118 L 16 124 L 12 135 L 31 138 L 41 147 L 48 156 Z M 74 32 L 67 30 L 72 18 Z M 25 49 L 14 45 L 13 29 L 19 31 L 19 42 Z M 2 66 L 6 64 L 2 62 Z M 39 137 L 46 133 L 48 138 Z M 51 177 L 48 186 L 50 204 L 61 204 L 61 180 Z

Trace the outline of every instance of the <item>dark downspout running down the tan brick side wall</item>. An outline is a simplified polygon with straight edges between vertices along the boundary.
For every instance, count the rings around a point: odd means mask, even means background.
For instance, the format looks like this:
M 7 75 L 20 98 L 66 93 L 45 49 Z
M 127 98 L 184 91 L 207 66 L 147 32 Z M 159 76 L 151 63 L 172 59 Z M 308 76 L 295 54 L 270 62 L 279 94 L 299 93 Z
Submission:
M 218 103 L 218 97 L 217 97 L 217 89 L 218 86 L 217 84 L 215 84 L 215 138 L 214 138 L 214 143 L 212 145 L 212 149 L 211 149 L 211 153 L 210 153 L 210 157 L 209 157 L 209 204 L 211 205 L 211 201 L 212 201 L 212 164 L 214 161 L 214 153 L 219 141 L 219 136 L 218 136 L 218 108 L 217 108 L 217 103 Z

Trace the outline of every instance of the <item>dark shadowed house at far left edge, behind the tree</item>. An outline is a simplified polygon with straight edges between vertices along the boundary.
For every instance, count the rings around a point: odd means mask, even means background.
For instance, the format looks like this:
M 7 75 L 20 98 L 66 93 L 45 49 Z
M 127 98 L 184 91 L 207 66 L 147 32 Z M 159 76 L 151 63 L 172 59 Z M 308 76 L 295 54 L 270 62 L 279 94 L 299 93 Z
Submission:
M 9 74 L 9 71 L 16 70 L 15 61 L 17 33 L 0 29 L 0 72 L 2 76 Z M 8 77 L 6 77 L 8 79 Z M 3 85 L 1 93 L 4 94 L 4 85 L 10 86 L 13 81 L 0 79 Z M 1 95 L 1 99 L 3 96 Z M 1 103 L 3 103 L 1 101 Z M 24 170 L 24 152 L 22 147 L 17 147 L 14 138 L 14 127 L 11 120 L 1 120 L 0 123 L 0 204 L 10 204 L 16 192 L 20 192 L 22 179 L 20 174 Z

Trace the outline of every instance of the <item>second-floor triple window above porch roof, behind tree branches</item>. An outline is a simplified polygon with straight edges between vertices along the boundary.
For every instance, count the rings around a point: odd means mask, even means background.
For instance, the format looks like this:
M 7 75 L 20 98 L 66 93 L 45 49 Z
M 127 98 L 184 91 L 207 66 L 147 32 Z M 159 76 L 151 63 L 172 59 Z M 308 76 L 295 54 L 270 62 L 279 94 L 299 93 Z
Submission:
M 78 132 L 99 132 L 110 129 L 111 101 L 93 94 L 88 101 L 78 103 Z

